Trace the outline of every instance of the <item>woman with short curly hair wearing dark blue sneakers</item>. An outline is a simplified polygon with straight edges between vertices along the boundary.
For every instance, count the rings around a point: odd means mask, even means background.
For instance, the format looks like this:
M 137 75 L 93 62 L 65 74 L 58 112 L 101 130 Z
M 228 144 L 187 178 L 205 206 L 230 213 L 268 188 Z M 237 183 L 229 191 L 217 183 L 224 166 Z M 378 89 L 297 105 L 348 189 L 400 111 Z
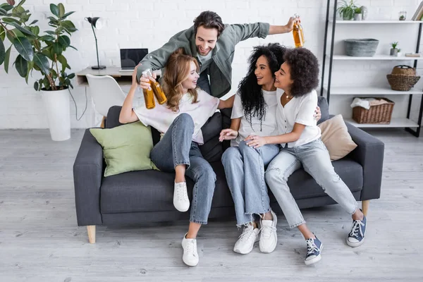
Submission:
M 333 169 L 331 157 L 323 142 L 321 131 L 312 113 L 317 105 L 314 88 L 319 84 L 319 63 L 311 51 L 298 48 L 286 51 L 285 62 L 275 73 L 278 88 L 276 136 L 249 136 L 249 145 L 261 147 L 281 144 L 281 152 L 271 161 L 266 170 L 266 182 L 274 193 L 290 228 L 298 227 L 307 243 L 305 264 L 314 264 L 321 259 L 323 244 L 309 231 L 287 180 L 301 166 L 323 188 L 333 200 L 353 217 L 353 228 L 347 243 L 358 247 L 364 242 L 366 218 L 357 207 L 357 201 L 347 185 Z

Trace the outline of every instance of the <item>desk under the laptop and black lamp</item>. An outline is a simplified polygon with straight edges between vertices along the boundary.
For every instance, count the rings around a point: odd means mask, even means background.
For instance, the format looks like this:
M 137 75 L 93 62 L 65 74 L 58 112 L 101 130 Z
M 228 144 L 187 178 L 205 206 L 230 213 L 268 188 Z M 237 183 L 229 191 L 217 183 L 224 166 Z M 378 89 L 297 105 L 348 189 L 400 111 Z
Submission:
M 118 66 L 108 66 L 104 70 L 93 70 L 91 67 L 76 73 L 76 82 L 80 86 L 88 86 L 88 80 L 85 75 L 110 75 L 113 77 L 118 85 L 130 86 L 132 85 L 132 71 L 119 71 L 121 68 Z

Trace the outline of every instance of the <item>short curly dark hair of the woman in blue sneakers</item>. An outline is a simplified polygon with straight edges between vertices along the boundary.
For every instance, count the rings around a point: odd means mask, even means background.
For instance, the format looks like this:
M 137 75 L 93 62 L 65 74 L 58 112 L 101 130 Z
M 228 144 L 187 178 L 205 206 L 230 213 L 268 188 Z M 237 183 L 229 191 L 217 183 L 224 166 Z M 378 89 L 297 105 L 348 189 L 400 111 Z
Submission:
M 292 96 L 305 95 L 319 85 L 319 61 L 312 51 L 305 48 L 288 49 L 283 58 L 290 66 Z

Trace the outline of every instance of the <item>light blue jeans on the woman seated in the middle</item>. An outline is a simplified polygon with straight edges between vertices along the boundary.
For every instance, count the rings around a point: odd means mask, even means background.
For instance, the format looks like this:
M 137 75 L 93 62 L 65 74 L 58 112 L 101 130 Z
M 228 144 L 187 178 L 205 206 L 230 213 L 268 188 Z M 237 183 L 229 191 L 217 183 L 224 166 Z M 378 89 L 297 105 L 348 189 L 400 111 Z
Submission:
M 252 222 L 253 214 L 270 211 L 270 200 L 264 180 L 264 166 L 279 153 L 279 145 L 254 149 L 240 142 L 222 155 L 226 181 L 231 190 L 237 226 Z

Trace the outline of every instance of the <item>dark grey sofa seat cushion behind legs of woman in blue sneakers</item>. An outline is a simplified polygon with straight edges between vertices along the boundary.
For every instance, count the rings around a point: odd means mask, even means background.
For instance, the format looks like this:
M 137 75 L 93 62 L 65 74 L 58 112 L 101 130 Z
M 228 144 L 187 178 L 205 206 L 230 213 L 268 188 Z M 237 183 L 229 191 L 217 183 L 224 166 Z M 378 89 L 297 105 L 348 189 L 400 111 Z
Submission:
M 351 192 L 362 190 L 363 168 L 352 159 L 345 158 L 332 162 L 336 173 L 350 188 Z M 288 178 L 288 186 L 295 200 L 326 196 L 324 190 L 316 183 L 304 169 L 300 168 Z M 269 190 L 270 191 L 270 190 Z M 269 192 L 271 194 L 271 192 Z M 271 202 L 276 202 L 274 195 L 270 195 Z

